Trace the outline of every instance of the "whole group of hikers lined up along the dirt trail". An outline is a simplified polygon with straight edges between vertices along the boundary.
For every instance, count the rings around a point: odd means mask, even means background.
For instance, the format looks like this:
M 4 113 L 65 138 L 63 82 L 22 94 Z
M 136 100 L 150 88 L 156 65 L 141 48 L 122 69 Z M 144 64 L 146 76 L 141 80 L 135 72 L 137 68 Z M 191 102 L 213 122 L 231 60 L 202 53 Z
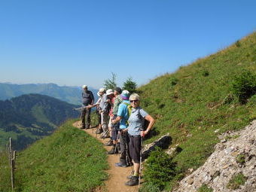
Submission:
M 90 128 L 90 111 L 96 107 L 99 120 L 96 134 L 101 134 L 102 139 L 110 138 L 105 143 L 112 146 L 108 154 L 120 153 L 120 162 L 115 163 L 115 166 L 133 166 L 133 174 L 127 176 L 130 180 L 126 185 L 139 184 L 142 139 L 154 125 L 154 118 L 139 106 L 140 97 L 137 93 L 130 94 L 120 87 L 115 87 L 114 90 L 101 88 L 97 93 L 99 99 L 94 103 L 93 93 L 86 85 L 82 88 L 81 128 Z M 143 129 L 145 120 L 148 123 Z

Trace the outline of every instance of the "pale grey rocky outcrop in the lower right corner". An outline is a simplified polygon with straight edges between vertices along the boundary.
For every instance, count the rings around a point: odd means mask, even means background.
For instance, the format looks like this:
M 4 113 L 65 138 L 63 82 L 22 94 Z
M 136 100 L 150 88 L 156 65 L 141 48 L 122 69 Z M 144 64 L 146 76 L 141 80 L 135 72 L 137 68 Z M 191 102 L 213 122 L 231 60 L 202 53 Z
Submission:
M 180 181 L 175 192 L 196 192 L 203 184 L 213 192 L 256 191 L 256 120 L 245 130 L 225 133 L 215 152 L 199 169 Z M 227 187 L 234 175 L 245 176 L 237 189 Z

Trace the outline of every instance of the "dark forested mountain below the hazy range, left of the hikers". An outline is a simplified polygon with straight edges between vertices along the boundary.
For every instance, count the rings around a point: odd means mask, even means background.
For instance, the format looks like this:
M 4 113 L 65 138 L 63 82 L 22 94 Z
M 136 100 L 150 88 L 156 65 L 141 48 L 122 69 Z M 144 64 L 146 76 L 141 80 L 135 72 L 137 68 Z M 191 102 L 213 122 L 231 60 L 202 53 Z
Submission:
M 14 149 L 48 136 L 69 118 L 78 117 L 76 105 L 39 94 L 18 96 L 0 101 L 0 150 L 8 138 L 14 139 Z

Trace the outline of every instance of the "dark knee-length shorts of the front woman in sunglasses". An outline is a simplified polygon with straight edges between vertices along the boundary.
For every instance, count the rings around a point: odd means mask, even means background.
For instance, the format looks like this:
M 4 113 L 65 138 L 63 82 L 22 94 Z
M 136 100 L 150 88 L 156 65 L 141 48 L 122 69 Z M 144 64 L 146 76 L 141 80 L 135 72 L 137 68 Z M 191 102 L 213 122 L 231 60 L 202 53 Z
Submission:
M 140 154 L 142 148 L 142 137 L 141 136 L 130 136 L 129 135 L 129 151 L 134 163 L 140 162 Z

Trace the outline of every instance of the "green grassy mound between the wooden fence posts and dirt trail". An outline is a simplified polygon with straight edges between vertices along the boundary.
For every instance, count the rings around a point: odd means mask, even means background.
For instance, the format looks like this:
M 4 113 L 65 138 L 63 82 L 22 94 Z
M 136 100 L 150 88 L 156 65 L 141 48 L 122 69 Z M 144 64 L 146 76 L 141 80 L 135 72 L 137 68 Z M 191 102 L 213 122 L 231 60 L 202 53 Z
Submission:
M 16 191 L 90 191 L 103 184 L 108 177 L 105 150 L 74 122 L 18 154 Z

